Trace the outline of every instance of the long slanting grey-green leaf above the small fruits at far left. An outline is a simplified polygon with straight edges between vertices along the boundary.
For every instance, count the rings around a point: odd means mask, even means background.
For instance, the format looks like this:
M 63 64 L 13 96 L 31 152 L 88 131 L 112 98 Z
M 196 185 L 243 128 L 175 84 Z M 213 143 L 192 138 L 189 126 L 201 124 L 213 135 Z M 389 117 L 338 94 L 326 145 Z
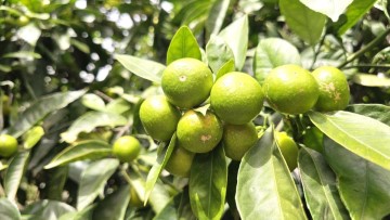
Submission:
M 9 133 L 18 138 L 50 113 L 66 107 L 84 93 L 86 90 L 80 90 L 73 92 L 58 92 L 41 98 L 22 113 L 22 115 L 20 115 L 14 126 L 10 128 Z

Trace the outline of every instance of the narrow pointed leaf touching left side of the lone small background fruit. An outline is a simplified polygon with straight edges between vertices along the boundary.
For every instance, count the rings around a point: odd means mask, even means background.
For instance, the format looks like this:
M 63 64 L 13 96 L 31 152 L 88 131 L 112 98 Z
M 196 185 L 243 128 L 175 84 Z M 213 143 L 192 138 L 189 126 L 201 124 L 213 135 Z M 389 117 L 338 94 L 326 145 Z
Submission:
M 44 166 L 44 169 L 66 165 L 76 160 L 98 159 L 110 154 L 112 146 L 107 142 L 98 140 L 82 141 L 66 147 Z

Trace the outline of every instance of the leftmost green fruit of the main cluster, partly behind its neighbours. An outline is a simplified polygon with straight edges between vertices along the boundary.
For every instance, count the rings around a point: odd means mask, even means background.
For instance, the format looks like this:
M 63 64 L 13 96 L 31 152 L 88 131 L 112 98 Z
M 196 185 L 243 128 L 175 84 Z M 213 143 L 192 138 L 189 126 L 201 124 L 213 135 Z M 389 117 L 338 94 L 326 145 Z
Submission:
M 140 119 L 145 131 L 158 141 L 171 139 L 180 117 L 180 111 L 164 95 L 147 98 L 140 107 Z

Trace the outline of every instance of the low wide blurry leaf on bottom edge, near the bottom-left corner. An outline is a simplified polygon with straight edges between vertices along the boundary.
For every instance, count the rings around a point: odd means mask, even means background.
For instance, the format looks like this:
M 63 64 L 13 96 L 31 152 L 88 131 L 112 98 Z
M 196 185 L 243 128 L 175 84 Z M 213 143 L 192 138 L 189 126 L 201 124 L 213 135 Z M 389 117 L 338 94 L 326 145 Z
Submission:
M 28 205 L 22 213 L 29 216 L 27 220 L 56 220 L 67 212 L 75 211 L 75 208 L 66 203 L 43 199 Z

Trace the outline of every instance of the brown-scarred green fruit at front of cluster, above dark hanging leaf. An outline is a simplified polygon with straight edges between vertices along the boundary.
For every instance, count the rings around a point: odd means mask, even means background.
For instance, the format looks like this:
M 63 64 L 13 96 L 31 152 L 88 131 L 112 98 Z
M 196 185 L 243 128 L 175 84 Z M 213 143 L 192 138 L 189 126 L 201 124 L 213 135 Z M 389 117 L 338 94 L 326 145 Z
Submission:
M 222 139 L 221 121 L 211 112 L 206 115 L 187 111 L 178 124 L 178 142 L 185 150 L 194 153 L 211 151 Z

